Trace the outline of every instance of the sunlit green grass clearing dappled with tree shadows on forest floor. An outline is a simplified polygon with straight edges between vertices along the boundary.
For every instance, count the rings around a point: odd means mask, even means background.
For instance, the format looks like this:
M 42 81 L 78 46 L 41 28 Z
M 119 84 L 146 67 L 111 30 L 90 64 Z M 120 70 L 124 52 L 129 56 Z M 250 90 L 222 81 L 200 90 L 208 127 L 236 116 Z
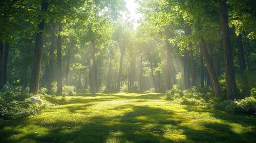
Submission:
M 78 94 L 66 101 L 39 116 L 0 121 L 0 142 L 256 141 L 255 116 L 178 105 L 163 94 Z

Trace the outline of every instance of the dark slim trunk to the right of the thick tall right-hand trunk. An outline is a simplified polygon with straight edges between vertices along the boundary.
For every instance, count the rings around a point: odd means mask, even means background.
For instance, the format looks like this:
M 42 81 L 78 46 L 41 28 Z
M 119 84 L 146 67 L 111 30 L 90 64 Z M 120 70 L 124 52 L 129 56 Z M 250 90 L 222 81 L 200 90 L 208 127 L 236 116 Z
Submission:
M 242 34 L 239 34 L 237 36 L 238 41 L 238 57 L 239 57 L 239 67 L 240 72 L 243 74 L 243 71 L 245 71 L 245 54 L 243 53 L 243 42 L 242 42 Z

